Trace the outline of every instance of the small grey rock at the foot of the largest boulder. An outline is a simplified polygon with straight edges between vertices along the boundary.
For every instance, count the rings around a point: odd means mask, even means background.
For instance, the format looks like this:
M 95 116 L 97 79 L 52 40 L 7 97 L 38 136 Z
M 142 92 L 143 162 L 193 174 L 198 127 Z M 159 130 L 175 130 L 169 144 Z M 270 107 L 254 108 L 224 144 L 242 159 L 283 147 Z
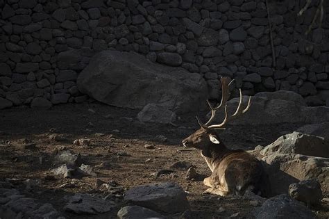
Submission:
M 137 119 L 140 120 L 140 122 L 160 122 L 168 124 L 176 121 L 176 113 L 160 104 L 147 104 L 142 111 L 137 114 Z

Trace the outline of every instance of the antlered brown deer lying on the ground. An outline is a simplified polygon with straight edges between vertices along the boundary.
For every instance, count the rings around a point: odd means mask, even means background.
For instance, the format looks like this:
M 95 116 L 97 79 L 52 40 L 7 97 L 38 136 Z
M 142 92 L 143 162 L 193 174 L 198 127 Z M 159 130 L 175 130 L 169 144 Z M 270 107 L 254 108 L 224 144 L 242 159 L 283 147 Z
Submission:
M 243 115 L 251 106 L 251 97 L 248 98 L 248 104 L 243 108 L 242 91 L 239 89 L 239 104 L 233 115 L 228 115 L 226 102 L 230 97 L 227 77 L 221 78 L 221 103 L 219 106 L 210 106 L 211 116 L 208 122 L 204 124 L 196 116 L 200 129 L 196 130 L 190 136 L 185 138 L 182 143 L 184 147 L 194 147 L 201 150 L 201 156 L 205 159 L 212 175 L 203 179 L 203 184 L 208 186 L 203 193 L 213 195 L 244 195 L 246 191 L 251 191 L 257 195 L 267 196 L 268 187 L 262 186 L 266 183 L 267 175 L 264 172 L 261 161 L 242 149 L 228 149 L 221 141 L 216 130 L 225 129 L 228 122 L 235 120 Z M 225 118 L 220 124 L 211 124 L 215 114 L 224 107 Z

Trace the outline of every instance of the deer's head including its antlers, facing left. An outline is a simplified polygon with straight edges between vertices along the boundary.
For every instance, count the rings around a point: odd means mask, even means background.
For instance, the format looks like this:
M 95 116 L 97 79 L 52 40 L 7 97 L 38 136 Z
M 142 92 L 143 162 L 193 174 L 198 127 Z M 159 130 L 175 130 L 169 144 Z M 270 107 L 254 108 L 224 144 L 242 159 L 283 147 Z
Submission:
M 249 97 L 248 100 L 248 105 L 246 108 L 242 108 L 242 91 L 241 89 L 239 90 L 240 92 L 240 101 L 239 105 L 237 106 L 237 110 L 233 115 L 228 116 L 228 111 L 227 111 L 227 104 L 226 102 L 228 101 L 228 98 L 230 97 L 230 92 L 228 90 L 228 87 L 230 86 L 230 83 L 228 83 L 228 78 L 227 77 L 222 77 L 221 78 L 221 104 L 219 106 L 213 107 L 209 100 L 207 100 L 208 105 L 210 106 L 211 109 L 211 117 L 206 122 L 203 124 L 198 117 L 196 117 L 196 120 L 198 120 L 201 128 L 196 130 L 192 135 L 188 136 L 185 138 L 182 143 L 184 147 L 195 147 L 197 149 L 207 149 L 207 147 L 210 147 L 210 145 L 223 145 L 221 143 L 221 139 L 217 135 L 216 129 L 225 129 L 225 125 L 231 121 L 234 120 L 235 118 L 239 117 L 240 115 L 246 113 L 248 109 L 251 106 L 251 97 Z M 211 122 L 214 120 L 214 116 L 216 112 L 220 109 L 225 107 L 225 118 L 221 124 L 211 124 Z

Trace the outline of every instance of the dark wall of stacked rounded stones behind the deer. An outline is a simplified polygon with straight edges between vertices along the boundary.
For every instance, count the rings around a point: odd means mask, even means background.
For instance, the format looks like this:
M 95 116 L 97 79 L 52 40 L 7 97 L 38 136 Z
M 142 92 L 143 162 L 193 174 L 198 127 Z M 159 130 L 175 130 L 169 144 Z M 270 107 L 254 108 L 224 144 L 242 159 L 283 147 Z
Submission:
M 152 62 L 203 74 L 210 97 L 219 76 L 236 88 L 293 90 L 329 106 L 329 3 L 323 29 L 305 35 L 317 1 L 0 0 L 0 108 L 83 102 L 76 77 L 98 51 L 136 51 Z M 326 16 L 327 15 L 327 16 Z

